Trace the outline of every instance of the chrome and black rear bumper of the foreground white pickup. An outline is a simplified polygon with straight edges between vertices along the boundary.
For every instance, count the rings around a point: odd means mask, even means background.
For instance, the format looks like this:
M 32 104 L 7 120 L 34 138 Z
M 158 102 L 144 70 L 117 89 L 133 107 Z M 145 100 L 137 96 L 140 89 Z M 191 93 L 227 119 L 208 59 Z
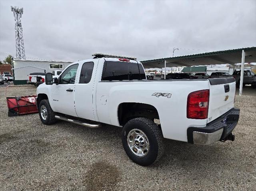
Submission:
M 240 109 L 232 108 L 205 127 L 189 127 L 188 142 L 209 145 L 216 141 L 225 141 L 238 123 Z

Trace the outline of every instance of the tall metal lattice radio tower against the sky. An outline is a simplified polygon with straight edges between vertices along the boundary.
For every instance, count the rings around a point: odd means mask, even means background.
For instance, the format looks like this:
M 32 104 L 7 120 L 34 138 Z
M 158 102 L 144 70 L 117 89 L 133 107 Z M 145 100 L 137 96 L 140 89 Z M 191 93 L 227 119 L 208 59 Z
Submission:
M 13 12 L 15 21 L 16 59 L 26 59 L 21 26 L 21 16 L 23 14 L 23 8 L 11 6 L 11 10 Z

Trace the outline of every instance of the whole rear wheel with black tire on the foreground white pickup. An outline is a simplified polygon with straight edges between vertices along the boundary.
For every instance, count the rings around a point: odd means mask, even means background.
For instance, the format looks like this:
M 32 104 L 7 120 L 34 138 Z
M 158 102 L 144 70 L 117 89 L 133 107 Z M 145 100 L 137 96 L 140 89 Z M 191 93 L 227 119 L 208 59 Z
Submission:
M 147 166 L 158 161 L 163 154 L 161 129 L 148 118 L 128 121 L 122 131 L 122 143 L 128 157 L 135 163 Z

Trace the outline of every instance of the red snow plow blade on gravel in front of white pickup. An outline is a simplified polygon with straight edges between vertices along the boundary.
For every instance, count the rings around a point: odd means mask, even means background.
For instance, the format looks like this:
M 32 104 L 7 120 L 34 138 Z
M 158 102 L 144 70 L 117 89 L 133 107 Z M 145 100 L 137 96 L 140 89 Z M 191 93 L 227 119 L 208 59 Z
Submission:
M 6 97 L 6 101 L 9 109 L 9 117 L 38 112 L 36 95 Z

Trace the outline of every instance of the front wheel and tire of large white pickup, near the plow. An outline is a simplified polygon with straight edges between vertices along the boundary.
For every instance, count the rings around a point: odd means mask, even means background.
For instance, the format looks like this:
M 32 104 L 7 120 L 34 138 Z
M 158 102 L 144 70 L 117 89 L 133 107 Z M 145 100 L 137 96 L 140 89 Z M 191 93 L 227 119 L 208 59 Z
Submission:
M 51 125 L 57 121 L 55 112 L 52 110 L 48 99 L 44 99 L 40 102 L 38 112 L 43 124 Z

